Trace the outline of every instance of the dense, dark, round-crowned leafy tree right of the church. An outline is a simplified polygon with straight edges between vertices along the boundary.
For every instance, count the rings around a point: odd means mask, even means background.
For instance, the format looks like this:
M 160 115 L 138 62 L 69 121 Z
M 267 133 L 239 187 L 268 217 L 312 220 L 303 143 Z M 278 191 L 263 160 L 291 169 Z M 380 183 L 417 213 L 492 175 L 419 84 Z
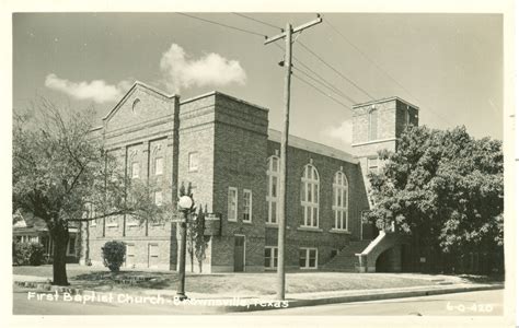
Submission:
M 379 229 L 393 223 L 420 245 L 463 254 L 503 246 L 501 142 L 469 136 L 464 127 L 440 131 L 411 127 L 394 153 L 369 175 Z

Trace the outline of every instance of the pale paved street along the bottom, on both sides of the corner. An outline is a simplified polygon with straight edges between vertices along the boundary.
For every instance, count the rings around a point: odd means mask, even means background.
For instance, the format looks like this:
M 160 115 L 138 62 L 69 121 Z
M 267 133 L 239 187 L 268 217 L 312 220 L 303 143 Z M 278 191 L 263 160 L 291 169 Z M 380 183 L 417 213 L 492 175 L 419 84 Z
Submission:
M 241 313 L 239 315 L 501 315 L 503 290 L 408 297 L 373 302 L 343 303 L 288 309 Z M 201 307 L 188 312 L 174 305 L 127 304 L 27 300 L 27 291 L 13 294 L 13 314 L 26 315 L 178 315 L 203 314 Z

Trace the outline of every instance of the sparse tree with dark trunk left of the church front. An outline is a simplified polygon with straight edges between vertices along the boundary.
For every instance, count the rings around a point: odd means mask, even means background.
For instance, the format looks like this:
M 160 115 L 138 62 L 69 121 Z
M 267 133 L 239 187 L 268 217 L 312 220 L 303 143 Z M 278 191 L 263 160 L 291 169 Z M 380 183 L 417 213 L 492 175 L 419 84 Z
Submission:
M 69 226 L 114 215 L 163 220 L 174 212 L 171 203 L 154 204 L 153 186 L 127 178 L 120 156 L 93 136 L 93 117 L 92 110 L 60 108 L 45 98 L 14 113 L 13 211 L 31 211 L 46 222 L 55 245 L 54 284 L 68 284 Z M 92 207 L 95 214 L 85 214 Z

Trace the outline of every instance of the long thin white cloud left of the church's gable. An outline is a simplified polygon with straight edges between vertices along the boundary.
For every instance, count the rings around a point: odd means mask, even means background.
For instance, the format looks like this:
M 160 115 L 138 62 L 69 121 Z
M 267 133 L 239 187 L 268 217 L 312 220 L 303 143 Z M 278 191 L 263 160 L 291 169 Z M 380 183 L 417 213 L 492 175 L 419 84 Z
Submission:
M 92 99 L 97 104 L 102 104 L 119 99 L 131 84 L 128 81 L 122 81 L 117 85 L 111 85 L 103 80 L 71 82 L 50 73 L 45 78 L 45 86 L 64 92 L 78 99 Z

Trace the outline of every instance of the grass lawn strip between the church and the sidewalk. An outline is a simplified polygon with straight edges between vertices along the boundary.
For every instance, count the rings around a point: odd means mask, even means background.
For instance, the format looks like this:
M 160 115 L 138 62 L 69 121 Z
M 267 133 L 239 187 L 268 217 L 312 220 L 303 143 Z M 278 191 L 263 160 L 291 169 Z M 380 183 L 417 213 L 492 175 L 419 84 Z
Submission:
M 112 274 L 106 268 L 68 265 L 71 286 L 95 291 L 175 291 L 177 274 L 174 271 L 127 270 Z M 14 274 L 51 278 L 51 266 L 13 267 Z M 116 279 L 149 277 L 136 284 L 116 283 Z M 343 272 L 293 272 L 287 273 L 287 293 L 307 293 L 344 290 L 417 286 L 434 284 L 431 276 L 415 277 L 397 273 L 343 273 Z M 261 296 L 275 294 L 276 273 L 215 273 L 186 276 L 186 291 L 200 294 Z

